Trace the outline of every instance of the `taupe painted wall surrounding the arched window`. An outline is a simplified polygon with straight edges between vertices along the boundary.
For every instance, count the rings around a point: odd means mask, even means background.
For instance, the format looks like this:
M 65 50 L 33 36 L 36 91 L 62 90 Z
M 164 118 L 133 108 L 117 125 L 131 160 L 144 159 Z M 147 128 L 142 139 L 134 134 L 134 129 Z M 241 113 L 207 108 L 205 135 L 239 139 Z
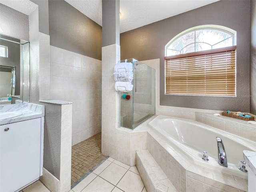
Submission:
M 205 24 L 237 32 L 237 98 L 164 94 L 164 46 L 180 32 Z M 249 112 L 250 1 L 218 1 L 120 34 L 121 59 L 160 58 L 160 105 Z

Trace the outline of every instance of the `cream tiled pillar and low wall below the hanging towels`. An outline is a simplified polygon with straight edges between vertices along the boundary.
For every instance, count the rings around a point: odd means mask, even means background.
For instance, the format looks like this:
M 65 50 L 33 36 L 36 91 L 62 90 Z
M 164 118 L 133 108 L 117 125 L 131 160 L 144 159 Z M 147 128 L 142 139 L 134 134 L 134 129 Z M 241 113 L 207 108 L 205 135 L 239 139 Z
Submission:
M 114 66 L 120 60 L 120 46 L 102 47 L 102 154 L 124 164 L 135 165 L 135 151 L 146 148 L 144 133 L 118 128 L 119 96 L 114 88 Z

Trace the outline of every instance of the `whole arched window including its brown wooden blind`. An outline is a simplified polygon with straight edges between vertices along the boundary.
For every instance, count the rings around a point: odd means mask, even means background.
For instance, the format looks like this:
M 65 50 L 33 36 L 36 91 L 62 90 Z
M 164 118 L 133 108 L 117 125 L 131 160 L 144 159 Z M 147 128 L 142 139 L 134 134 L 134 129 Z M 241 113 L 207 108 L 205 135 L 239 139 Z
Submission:
M 196 28 L 165 46 L 165 94 L 236 96 L 235 32 Z

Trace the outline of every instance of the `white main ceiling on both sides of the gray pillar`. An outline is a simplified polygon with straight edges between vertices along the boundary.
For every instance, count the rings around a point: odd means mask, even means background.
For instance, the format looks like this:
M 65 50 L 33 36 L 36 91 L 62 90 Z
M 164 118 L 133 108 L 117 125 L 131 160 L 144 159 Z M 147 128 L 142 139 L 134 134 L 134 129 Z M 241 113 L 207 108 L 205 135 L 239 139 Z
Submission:
M 101 0 L 65 0 L 102 26 Z M 218 0 L 120 0 L 120 33 L 196 9 Z

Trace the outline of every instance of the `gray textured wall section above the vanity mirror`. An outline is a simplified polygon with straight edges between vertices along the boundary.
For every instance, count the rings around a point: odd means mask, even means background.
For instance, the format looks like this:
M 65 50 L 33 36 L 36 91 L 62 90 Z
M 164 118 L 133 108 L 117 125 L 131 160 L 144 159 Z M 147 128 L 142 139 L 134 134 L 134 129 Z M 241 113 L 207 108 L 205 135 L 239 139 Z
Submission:
M 0 3 L 1 34 L 29 41 L 28 16 Z

